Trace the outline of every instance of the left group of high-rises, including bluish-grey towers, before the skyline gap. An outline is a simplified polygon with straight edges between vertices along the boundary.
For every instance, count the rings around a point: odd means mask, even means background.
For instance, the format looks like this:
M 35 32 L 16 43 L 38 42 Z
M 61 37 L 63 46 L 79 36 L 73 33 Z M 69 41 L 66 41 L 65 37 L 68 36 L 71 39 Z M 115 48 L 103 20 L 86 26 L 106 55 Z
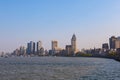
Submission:
M 16 56 L 27 56 L 27 55 L 31 55 L 31 56 L 42 56 L 45 54 L 44 48 L 42 47 L 42 42 L 38 41 L 37 43 L 30 41 L 29 43 L 27 43 L 27 48 L 25 48 L 24 46 L 21 46 L 19 49 L 16 49 L 13 51 L 12 55 L 16 55 Z

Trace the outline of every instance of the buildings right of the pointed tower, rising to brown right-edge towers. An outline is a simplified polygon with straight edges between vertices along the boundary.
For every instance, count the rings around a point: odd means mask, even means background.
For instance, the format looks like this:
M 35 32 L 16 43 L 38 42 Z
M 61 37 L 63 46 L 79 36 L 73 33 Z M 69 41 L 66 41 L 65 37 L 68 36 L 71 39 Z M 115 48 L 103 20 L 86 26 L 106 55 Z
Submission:
M 112 36 L 109 38 L 109 43 L 102 44 L 102 48 L 87 49 L 83 52 L 99 56 L 107 56 L 110 53 L 120 54 L 120 37 Z

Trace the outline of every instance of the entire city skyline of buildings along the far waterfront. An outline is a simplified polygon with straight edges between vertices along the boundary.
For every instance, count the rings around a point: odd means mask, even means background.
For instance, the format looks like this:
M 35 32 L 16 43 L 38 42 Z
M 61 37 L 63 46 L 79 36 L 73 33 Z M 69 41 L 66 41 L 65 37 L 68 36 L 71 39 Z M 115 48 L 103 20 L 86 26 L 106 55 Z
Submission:
M 15 56 L 76 56 L 76 54 L 89 53 L 97 56 L 106 56 L 110 52 L 120 53 L 120 37 L 112 36 L 109 38 L 109 43 L 103 43 L 102 48 L 83 49 L 79 51 L 77 49 L 77 38 L 73 34 L 71 38 L 71 44 L 66 45 L 64 49 L 58 46 L 58 41 L 51 41 L 51 49 L 44 50 L 42 42 L 30 41 L 27 43 L 27 47 L 21 46 L 19 49 L 13 51 L 12 55 Z M 4 53 L 2 52 L 2 55 Z

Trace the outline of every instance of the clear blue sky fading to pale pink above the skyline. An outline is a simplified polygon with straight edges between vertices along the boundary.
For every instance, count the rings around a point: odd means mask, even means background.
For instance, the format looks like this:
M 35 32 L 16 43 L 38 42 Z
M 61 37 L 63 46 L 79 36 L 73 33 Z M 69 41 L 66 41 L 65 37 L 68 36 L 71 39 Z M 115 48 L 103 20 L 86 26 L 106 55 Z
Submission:
M 51 49 L 71 44 L 99 48 L 120 36 L 120 0 L 0 0 L 0 52 L 12 52 L 30 41 Z

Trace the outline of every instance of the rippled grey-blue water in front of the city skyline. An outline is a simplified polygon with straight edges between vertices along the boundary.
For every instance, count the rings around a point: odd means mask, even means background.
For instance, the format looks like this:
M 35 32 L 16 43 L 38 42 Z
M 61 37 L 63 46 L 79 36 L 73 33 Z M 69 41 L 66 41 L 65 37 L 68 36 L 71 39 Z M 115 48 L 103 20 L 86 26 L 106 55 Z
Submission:
M 85 57 L 0 58 L 0 80 L 120 80 L 120 62 Z

